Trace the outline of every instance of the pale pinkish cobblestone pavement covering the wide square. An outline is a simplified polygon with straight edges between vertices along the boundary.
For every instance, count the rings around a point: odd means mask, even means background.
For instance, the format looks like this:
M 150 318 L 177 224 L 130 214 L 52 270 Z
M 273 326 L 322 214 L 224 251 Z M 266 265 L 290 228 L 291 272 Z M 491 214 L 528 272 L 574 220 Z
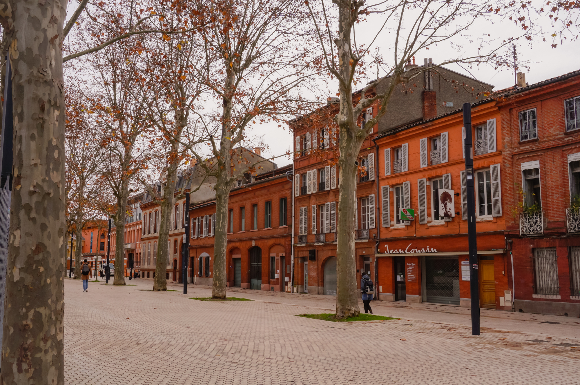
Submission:
M 67 384 L 580 384 L 579 318 L 482 311 L 472 336 L 457 307 L 374 302 L 401 319 L 335 323 L 296 317 L 332 313 L 329 296 L 127 283 L 66 280 Z

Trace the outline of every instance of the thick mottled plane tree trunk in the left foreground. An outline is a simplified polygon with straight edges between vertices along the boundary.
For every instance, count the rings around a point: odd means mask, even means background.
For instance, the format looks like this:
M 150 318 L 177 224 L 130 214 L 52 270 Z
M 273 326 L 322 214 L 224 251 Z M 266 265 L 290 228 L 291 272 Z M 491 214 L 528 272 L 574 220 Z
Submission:
M 14 103 L 3 385 L 64 384 L 65 17 L 66 2 L 0 1 Z

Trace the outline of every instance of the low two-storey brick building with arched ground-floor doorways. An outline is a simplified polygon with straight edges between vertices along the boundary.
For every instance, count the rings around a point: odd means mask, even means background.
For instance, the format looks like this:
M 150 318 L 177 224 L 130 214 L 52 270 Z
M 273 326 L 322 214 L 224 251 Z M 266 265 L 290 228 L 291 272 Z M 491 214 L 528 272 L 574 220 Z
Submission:
M 256 175 L 229 197 L 227 285 L 289 290 L 292 165 Z M 189 282 L 211 285 L 215 199 L 190 207 Z M 182 266 L 179 256 L 177 266 Z

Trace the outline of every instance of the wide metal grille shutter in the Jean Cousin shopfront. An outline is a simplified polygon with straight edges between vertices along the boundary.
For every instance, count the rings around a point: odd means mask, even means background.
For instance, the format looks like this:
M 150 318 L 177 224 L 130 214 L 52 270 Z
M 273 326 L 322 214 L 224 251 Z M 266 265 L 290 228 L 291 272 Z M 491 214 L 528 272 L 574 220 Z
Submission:
M 423 266 L 423 301 L 458 305 L 458 258 L 427 256 Z

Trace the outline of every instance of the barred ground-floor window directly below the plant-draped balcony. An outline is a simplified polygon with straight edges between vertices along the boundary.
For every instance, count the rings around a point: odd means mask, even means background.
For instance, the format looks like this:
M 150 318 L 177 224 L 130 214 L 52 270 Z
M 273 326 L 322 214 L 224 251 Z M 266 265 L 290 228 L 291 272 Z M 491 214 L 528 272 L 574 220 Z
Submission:
M 560 295 L 556 248 L 534 249 L 534 297 L 553 298 Z

